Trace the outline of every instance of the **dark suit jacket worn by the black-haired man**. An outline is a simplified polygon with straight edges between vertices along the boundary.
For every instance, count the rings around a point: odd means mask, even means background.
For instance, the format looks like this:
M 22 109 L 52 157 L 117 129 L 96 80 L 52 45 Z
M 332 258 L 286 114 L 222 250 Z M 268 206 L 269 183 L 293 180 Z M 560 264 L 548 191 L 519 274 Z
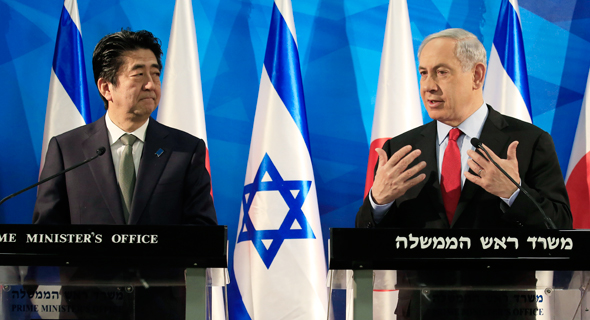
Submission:
M 98 159 L 39 186 L 33 222 L 125 224 L 104 117 L 54 137 L 41 178 Z M 158 156 L 156 152 L 164 152 Z M 203 140 L 149 119 L 129 224 L 216 225 Z

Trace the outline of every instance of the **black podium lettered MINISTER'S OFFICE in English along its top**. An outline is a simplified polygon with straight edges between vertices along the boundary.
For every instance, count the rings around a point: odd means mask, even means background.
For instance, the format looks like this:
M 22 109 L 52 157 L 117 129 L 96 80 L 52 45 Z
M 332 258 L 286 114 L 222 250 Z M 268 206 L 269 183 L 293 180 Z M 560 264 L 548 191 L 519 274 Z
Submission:
M 226 226 L 0 225 L 0 257 L 2 320 L 227 319 Z

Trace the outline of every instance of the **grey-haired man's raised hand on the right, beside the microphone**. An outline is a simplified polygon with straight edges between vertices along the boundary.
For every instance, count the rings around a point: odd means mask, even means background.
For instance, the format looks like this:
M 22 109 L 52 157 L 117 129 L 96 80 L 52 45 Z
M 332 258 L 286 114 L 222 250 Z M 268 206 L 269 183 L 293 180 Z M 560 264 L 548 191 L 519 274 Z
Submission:
M 488 151 L 490 156 L 497 164 L 500 165 L 508 173 L 514 181 L 520 184 L 520 176 L 518 175 L 518 160 L 516 159 L 516 147 L 518 141 L 512 142 L 508 146 L 506 159 L 500 159 L 490 148 L 484 144 L 484 148 Z M 467 160 L 467 165 L 475 174 L 464 172 L 467 180 L 484 188 L 487 192 L 501 198 L 510 198 L 512 194 L 518 189 L 494 164 L 484 155 L 468 150 L 467 155 L 471 159 Z

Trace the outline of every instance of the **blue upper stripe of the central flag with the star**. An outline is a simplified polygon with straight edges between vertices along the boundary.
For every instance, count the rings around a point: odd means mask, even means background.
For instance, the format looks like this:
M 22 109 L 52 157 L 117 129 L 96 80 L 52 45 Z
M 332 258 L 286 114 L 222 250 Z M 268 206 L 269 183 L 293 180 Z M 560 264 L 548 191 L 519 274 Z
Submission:
M 303 83 L 299 68 L 299 53 L 295 39 L 281 15 L 276 3 L 273 5 L 268 43 L 264 55 L 264 67 L 268 77 L 279 97 L 293 117 L 295 124 L 311 153 L 307 117 L 305 114 L 305 100 L 303 98 Z

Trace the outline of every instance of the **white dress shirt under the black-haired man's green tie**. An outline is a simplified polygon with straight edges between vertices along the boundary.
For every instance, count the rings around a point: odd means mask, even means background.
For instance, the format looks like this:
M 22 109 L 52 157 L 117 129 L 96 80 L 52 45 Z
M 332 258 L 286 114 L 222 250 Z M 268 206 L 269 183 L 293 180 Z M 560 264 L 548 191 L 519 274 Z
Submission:
M 121 142 L 121 136 L 126 133 L 134 135 L 137 140 L 133 143 L 133 165 L 135 166 L 135 175 L 139 170 L 139 162 L 141 161 L 141 154 L 143 152 L 143 145 L 145 143 L 145 132 L 147 130 L 149 120 L 146 121 L 141 127 L 133 132 L 125 132 L 123 129 L 117 127 L 117 125 L 109 117 L 109 113 L 105 116 L 107 131 L 109 133 L 109 144 L 111 145 L 111 154 L 113 155 L 113 164 L 115 167 L 115 174 L 117 175 L 117 182 L 119 181 L 119 161 L 121 161 L 121 155 L 125 145 Z

